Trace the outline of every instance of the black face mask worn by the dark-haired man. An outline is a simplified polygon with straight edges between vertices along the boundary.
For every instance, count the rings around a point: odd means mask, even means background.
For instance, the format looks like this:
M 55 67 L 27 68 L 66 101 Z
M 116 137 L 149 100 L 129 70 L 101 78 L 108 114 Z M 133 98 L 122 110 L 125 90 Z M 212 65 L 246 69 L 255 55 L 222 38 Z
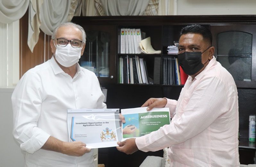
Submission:
M 209 59 L 208 59 L 204 64 L 202 64 L 202 54 L 205 51 L 203 51 L 203 52 L 183 52 L 183 53 L 178 54 L 178 61 L 180 63 L 180 66 L 182 67 L 183 71 L 186 74 L 194 75 L 195 73 L 199 72 L 204 67 L 205 63 L 207 63 L 209 61 Z

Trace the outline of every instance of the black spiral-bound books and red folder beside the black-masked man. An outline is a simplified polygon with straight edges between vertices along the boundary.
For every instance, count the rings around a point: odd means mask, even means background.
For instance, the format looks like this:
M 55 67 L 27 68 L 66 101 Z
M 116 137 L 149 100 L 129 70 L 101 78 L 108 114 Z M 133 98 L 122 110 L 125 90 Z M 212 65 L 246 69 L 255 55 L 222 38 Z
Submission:
M 184 85 L 188 77 L 179 66 L 176 57 L 163 58 L 162 75 L 164 85 Z

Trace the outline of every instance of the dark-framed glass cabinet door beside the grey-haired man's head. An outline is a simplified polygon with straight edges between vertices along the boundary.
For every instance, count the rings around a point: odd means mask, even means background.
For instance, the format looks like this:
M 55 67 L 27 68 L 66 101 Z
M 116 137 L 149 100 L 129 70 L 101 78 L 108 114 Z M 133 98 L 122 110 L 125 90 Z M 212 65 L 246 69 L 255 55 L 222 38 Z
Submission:
M 86 45 L 79 64 L 96 74 L 100 84 L 115 83 L 115 26 L 81 25 Z

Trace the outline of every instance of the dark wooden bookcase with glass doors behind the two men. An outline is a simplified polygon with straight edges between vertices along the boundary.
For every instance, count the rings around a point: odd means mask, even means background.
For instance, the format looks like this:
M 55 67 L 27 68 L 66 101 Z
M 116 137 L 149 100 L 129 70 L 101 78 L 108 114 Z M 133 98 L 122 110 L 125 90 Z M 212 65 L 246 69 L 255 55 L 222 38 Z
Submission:
M 158 55 L 136 54 L 144 58 L 147 63 L 149 75 L 154 76 L 154 57 L 170 57 L 166 48 L 172 45 L 173 41 L 179 40 L 179 32 L 182 27 L 191 24 L 200 24 L 208 27 L 213 34 L 212 45 L 218 46 L 218 34 L 223 32 L 244 32 L 249 34 L 251 44 L 250 54 L 246 55 L 249 60 L 250 80 L 236 80 L 239 96 L 239 132 L 240 132 L 240 162 L 241 164 L 252 163 L 255 155 L 242 156 L 244 152 L 255 153 L 255 144 L 248 141 L 249 115 L 256 113 L 256 15 L 215 15 L 215 16 L 108 16 L 108 17 L 74 17 L 72 20 L 84 27 L 86 31 L 97 30 L 109 33 L 109 77 L 99 77 L 101 86 L 107 90 L 108 108 L 133 108 L 140 107 L 150 97 L 167 97 L 178 99 L 182 85 L 162 85 L 160 84 L 118 84 L 118 58 L 121 56 L 133 56 L 134 54 L 120 54 L 119 35 L 121 28 L 140 28 L 146 33 L 146 37 L 151 37 L 151 45 L 155 50 L 161 50 Z M 242 35 L 243 36 L 243 35 Z M 222 38 L 220 38 L 222 39 Z M 250 41 L 250 40 L 249 40 Z M 243 45 L 243 44 L 242 44 Z M 225 49 L 225 48 L 224 48 Z M 217 60 L 218 51 L 216 48 Z M 248 49 L 247 49 L 248 50 Z M 225 55 L 224 55 L 225 56 Z M 226 55 L 227 56 L 227 55 Z M 86 50 L 85 55 L 86 57 Z M 244 55 L 235 55 L 243 59 Z M 225 59 L 225 58 L 224 58 Z M 246 62 L 248 63 L 248 62 Z M 162 65 L 159 66 L 160 80 L 162 81 Z M 241 70 L 239 66 L 235 70 Z M 133 155 L 125 155 L 116 148 L 99 149 L 99 162 L 105 163 L 107 167 L 113 166 L 139 166 L 148 155 L 162 156 L 163 152 L 143 153 L 141 151 Z M 125 162 L 125 163 L 124 163 Z M 122 164 L 122 165 L 121 165 Z

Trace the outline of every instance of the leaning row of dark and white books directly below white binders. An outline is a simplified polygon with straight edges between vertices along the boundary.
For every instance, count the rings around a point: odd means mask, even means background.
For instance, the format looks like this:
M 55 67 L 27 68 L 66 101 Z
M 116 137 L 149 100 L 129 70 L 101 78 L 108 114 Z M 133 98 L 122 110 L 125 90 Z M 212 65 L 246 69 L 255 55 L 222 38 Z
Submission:
M 136 55 L 134 57 L 120 57 L 119 83 L 149 84 L 149 75 L 145 60 Z

